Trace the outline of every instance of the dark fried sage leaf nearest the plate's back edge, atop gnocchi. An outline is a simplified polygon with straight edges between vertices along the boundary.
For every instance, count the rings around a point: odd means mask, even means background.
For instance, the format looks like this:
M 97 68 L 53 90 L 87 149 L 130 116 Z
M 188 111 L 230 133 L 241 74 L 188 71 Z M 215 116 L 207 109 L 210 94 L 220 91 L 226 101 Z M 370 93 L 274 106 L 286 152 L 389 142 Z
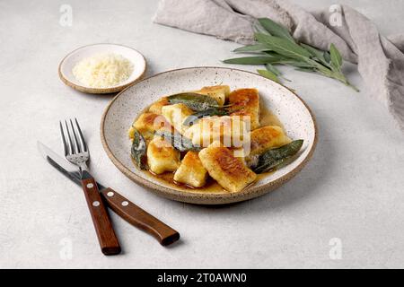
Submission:
M 206 110 L 219 108 L 219 103 L 214 98 L 202 95 L 197 92 L 181 92 L 168 97 L 171 104 L 182 103 L 193 110 Z

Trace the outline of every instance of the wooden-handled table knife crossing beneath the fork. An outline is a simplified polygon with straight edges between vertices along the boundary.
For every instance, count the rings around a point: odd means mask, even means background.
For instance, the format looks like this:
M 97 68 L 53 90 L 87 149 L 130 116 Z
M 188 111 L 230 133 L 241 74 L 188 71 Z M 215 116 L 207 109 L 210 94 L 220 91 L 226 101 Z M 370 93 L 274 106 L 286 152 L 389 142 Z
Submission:
M 38 149 L 51 166 L 59 170 L 67 178 L 70 178 L 79 187 L 82 186 L 80 173 L 75 165 L 58 156 L 44 143 L 38 142 Z M 145 230 L 145 232 L 154 236 L 162 246 L 170 245 L 180 239 L 178 231 L 159 221 L 152 214 L 145 212 L 112 188 L 104 187 L 99 182 L 97 182 L 97 185 L 102 199 L 110 209 L 138 229 Z

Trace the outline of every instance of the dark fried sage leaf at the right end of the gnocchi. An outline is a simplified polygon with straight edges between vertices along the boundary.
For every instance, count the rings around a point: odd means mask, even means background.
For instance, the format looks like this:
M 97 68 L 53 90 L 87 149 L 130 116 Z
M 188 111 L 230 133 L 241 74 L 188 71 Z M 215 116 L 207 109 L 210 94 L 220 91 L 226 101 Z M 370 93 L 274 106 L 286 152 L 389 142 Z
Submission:
M 294 154 L 299 152 L 302 148 L 303 140 L 296 140 L 292 143 L 287 143 L 276 149 L 270 149 L 267 152 L 263 152 L 259 155 L 259 161 L 255 168 L 252 170 L 255 173 L 264 173 L 269 170 L 276 169 L 285 161 L 290 159 Z

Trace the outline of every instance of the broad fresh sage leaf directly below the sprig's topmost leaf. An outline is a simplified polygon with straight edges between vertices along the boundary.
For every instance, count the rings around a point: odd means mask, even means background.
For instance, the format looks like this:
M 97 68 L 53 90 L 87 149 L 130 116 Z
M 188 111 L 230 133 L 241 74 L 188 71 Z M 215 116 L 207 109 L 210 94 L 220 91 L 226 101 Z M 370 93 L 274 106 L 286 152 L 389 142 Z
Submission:
M 308 50 L 290 40 L 268 36 L 262 33 L 255 33 L 254 35 L 260 43 L 265 44 L 268 48 L 282 56 L 302 60 L 312 55 Z

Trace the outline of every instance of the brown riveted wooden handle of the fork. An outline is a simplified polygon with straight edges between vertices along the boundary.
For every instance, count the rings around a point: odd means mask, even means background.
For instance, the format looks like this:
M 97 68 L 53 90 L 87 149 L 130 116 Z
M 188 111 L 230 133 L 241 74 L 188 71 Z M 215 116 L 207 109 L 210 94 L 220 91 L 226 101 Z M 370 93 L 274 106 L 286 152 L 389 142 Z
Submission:
M 87 200 L 87 205 L 92 214 L 92 223 L 100 242 L 101 252 L 104 255 L 115 255 L 120 253 L 120 246 L 115 231 L 110 222 L 105 205 L 102 202 L 100 192 L 94 178 L 82 180 L 82 187 Z

